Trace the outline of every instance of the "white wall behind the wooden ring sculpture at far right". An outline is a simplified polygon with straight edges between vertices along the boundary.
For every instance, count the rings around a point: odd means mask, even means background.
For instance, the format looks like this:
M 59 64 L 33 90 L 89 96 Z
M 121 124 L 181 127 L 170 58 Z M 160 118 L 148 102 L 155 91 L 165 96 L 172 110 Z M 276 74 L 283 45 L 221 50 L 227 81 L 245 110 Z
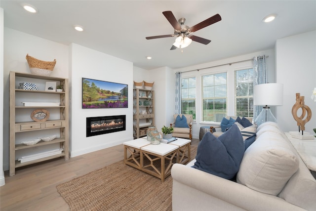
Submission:
M 295 93 L 301 93 L 305 96 L 305 105 L 312 110 L 312 119 L 305 125 L 306 131 L 315 134 L 316 102 L 312 101 L 311 95 L 316 87 L 316 31 L 276 41 L 276 82 L 284 84 L 283 106 L 277 108 L 281 129 L 298 131 L 291 111 L 296 102 Z

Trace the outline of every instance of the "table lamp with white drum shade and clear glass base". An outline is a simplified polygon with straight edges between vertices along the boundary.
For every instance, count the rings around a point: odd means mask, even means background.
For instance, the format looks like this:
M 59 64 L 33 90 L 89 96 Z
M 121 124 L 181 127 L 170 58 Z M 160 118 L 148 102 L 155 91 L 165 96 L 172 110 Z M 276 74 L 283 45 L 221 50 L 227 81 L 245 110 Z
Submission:
M 283 84 L 268 83 L 255 85 L 253 90 L 253 104 L 264 106 L 255 120 L 257 126 L 265 122 L 276 123 L 276 118 L 271 113 L 269 106 L 282 106 Z

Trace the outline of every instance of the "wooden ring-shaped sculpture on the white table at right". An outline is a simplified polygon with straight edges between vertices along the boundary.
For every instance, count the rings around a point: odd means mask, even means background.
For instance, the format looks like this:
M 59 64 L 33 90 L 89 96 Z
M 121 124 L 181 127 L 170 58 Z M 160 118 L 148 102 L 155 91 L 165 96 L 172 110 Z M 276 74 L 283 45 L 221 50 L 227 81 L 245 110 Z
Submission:
M 299 109 L 302 109 L 302 115 L 300 117 L 297 116 L 297 111 Z M 300 93 L 296 93 L 296 103 L 292 107 L 292 115 L 294 117 L 294 120 L 297 122 L 298 131 L 300 132 L 300 130 L 302 130 L 303 135 L 303 131 L 305 130 L 305 124 L 309 122 L 312 118 L 312 111 L 310 107 L 305 105 L 304 96 L 300 96 Z M 304 119 L 305 116 L 306 118 Z

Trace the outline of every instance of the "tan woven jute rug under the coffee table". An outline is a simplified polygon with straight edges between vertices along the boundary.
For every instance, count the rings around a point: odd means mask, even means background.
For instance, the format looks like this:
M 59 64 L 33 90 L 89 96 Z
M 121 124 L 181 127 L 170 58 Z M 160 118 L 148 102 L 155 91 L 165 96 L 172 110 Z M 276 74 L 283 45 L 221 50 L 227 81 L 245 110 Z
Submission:
M 197 147 L 191 146 L 191 159 Z M 119 161 L 57 185 L 72 211 L 171 211 L 172 177 L 164 182 Z

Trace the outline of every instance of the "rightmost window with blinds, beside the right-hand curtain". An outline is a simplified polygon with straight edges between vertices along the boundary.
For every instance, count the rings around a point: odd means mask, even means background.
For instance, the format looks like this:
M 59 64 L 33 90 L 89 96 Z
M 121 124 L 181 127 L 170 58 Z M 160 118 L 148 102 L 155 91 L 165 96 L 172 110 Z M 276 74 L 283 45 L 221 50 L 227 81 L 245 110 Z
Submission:
M 235 115 L 253 117 L 253 69 L 236 70 Z

